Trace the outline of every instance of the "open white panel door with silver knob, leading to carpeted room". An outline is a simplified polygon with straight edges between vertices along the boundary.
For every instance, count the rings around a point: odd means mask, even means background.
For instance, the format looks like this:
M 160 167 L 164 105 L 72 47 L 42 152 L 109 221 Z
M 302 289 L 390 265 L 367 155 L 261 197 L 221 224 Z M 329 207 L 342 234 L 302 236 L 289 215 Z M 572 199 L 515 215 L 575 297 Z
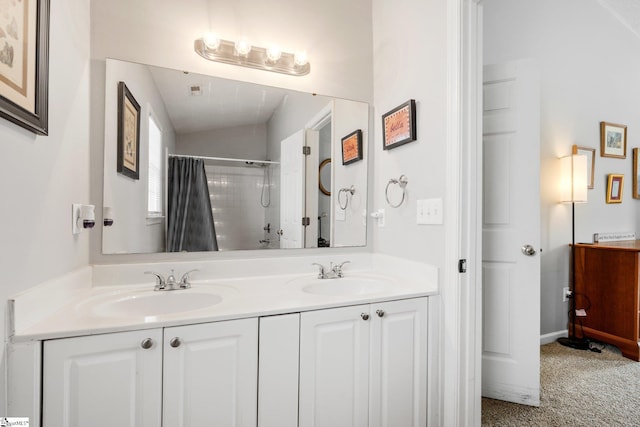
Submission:
M 540 403 L 540 85 L 532 61 L 484 68 L 482 395 Z M 522 248 L 530 245 L 531 254 Z

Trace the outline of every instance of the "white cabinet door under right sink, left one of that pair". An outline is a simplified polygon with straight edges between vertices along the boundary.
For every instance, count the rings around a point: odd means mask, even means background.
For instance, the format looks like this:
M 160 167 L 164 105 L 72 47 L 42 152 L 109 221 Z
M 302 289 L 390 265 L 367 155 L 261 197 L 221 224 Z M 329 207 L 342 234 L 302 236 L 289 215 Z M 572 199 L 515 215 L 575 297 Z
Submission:
M 367 426 L 369 306 L 300 316 L 300 427 Z

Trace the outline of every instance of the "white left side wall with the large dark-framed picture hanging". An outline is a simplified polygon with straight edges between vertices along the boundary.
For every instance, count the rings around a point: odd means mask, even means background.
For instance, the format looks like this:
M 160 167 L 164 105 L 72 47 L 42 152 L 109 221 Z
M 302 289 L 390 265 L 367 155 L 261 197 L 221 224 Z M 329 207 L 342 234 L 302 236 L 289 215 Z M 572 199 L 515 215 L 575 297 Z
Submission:
M 71 234 L 71 204 L 89 202 L 89 0 L 51 2 L 50 22 L 49 136 L 0 120 L 2 339 L 7 297 L 87 265 L 96 232 Z

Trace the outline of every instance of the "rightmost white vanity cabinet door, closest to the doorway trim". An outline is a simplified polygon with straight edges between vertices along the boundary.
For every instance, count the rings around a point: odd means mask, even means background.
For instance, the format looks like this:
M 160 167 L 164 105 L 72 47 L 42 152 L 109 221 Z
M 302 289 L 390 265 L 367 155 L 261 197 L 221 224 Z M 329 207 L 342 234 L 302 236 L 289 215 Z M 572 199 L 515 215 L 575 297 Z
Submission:
M 371 306 L 371 427 L 427 425 L 427 304 Z

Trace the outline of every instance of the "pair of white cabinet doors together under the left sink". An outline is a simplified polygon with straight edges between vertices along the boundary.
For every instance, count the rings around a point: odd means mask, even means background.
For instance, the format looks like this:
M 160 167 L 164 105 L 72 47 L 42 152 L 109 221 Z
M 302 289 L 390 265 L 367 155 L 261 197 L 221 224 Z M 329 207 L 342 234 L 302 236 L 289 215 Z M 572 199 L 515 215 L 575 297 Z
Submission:
M 43 426 L 255 427 L 258 319 L 45 341 Z

